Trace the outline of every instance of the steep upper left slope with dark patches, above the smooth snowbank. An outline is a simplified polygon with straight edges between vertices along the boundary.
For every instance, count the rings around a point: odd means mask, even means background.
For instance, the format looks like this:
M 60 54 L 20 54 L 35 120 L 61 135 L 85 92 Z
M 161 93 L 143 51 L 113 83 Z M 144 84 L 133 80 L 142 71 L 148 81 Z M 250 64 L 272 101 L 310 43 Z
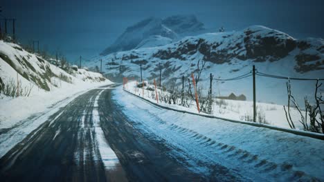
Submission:
M 106 79 L 102 74 L 86 70 L 69 70 L 69 73 L 52 65 L 36 54 L 31 54 L 14 43 L 0 41 L 0 78 L 8 84 L 17 79 L 22 88 L 35 86 L 50 91 L 57 88 L 57 81 L 75 83 L 78 81 L 100 82 Z

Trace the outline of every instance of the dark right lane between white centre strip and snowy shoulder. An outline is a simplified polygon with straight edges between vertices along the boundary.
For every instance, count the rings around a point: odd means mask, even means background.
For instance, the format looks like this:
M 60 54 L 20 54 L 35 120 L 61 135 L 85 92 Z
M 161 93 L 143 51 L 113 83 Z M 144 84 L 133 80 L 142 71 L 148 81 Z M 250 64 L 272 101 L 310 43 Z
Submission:
M 204 175 L 191 172 L 169 156 L 163 141 L 144 136 L 121 112 L 123 107 L 110 99 L 112 92 L 100 97 L 99 114 L 102 130 L 116 152 L 123 169 L 132 181 L 206 181 Z M 115 180 L 116 181 L 116 180 Z

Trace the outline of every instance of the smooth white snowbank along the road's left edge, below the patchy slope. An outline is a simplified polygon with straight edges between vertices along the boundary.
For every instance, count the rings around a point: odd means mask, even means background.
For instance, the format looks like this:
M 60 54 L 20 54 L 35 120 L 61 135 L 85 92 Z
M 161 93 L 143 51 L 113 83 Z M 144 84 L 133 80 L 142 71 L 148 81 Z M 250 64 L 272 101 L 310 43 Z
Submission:
M 79 95 L 86 90 L 111 83 L 109 80 L 100 83 L 80 81 L 79 83 L 70 84 L 62 82 L 62 88 L 55 88 L 51 92 L 37 90 L 30 97 L 17 97 L 15 99 L 5 97 L 0 99 L 0 130 L 3 128 L 11 128 L 19 123 L 19 121 L 27 119 L 32 115 L 35 116 L 47 112 L 55 108 L 57 103 L 70 97 L 75 97 L 75 95 Z M 63 106 L 61 105 L 61 107 Z

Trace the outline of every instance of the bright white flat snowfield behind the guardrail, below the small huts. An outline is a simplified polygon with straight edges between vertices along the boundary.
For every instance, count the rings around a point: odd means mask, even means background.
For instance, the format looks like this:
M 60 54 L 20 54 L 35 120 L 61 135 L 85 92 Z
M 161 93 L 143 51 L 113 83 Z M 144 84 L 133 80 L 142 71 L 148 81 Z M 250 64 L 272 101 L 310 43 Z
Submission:
M 147 82 L 146 82 L 147 83 Z M 150 88 L 154 88 L 154 85 L 148 85 Z M 130 81 L 125 85 L 125 90 L 132 92 L 136 95 L 143 97 L 143 89 L 136 87 L 136 81 Z M 158 94 L 161 94 L 161 90 L 158 88 Z M 155 97 L 152 98 L 152 92 L 144 88 L 144 98 L 156 103 Z M 160 105 L 176 108 L 178 110 L 186 110 L 188 112 L 198 113 L 195 101 L 192 101 L 190 108 L 183 107 L 181 105 L 174 105 L 163 103 L 159 101 Z M 285 110 L 283 105 L 273 103 L 257 102 L 257 112 L 265 119 L 265 123 L 275 125 L 281 128 L 289 128 L 287 123 Z M 201 114 L 204 114 L 201 112 Z M 236 121 L 246 121 L 246 117 L 253 119 L 253 101 L 234 101 L 228 99 L 215 99 L 213 103 L 213 116 L 224 119 L 233 119 Z M 299 122 L 300 114 L 296 108 L 291 108 L 291 119 L 293 119 L 296 128 L 303 130 L 303 125 Z M 257 119 L 258 120 L 258 119 Z

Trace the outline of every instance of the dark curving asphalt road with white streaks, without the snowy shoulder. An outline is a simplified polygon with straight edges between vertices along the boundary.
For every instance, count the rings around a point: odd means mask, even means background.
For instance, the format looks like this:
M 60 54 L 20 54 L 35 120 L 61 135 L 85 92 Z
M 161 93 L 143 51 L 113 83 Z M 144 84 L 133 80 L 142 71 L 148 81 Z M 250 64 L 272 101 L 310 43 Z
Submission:
M 208 180 L 136 130 L 111 97 L 94 89 L 61 108 L 0 159 L 1 181 Z

